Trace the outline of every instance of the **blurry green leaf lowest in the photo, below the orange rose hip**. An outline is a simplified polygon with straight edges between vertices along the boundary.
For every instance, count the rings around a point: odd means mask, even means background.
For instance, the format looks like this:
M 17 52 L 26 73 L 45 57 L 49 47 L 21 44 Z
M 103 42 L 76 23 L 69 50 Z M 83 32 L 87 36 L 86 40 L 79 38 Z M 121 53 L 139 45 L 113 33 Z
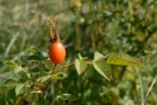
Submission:
M 59 101 L 59 100 L 68 100 L 68 101 L 76 101 L 77 100 L 77 97 L 76 96 L 72 96 L 71 94 L 69 94 L 69 93 L 64 93 L 64 94 L 62 94 L 62 95 L 58 95 L 57 97 L 56 97 L 56 100 L 57 101 Z

